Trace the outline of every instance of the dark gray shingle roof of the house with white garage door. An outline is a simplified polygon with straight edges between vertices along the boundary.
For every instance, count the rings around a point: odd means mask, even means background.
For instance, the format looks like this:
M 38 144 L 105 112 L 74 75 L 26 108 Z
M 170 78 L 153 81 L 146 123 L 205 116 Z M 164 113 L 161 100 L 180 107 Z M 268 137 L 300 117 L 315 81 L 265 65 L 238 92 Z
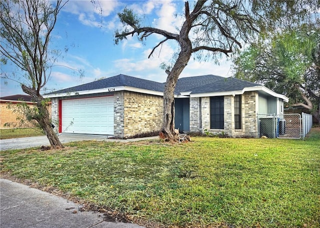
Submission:
M 68 93 L 76 91 L 86 91 L 103 89 L 117 86 L 129 86 L 133 88 L 146 89 L 151 91 L 163 92 L 164 84 L 160 82 L 145 80 L 141 78 L 131 77 L 119 74 L 113 77 L 104 78 L 98 81 L 89 82 L 86 84 L 58 90 L 49 94 Z M 257 86 L 259 84 L 243 81 L 236 78 L 224 78 L 216 75 L 202 75 L 194 77 L 179 78 L 174 90 L 175 94 L 181 92 L 191 92 L 192 94 L 198 93 L 214 93 L 223 91 L 238 91 L 245 87 Z

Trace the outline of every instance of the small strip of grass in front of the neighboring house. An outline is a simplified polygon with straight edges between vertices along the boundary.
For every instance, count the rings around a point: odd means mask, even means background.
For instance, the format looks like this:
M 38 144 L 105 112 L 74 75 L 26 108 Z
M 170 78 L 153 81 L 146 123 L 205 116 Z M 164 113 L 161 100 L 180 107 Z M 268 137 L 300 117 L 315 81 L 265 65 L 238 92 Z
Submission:
M 23 138 L 45 135 L 38 128 L 0 129 L 0 139 Z

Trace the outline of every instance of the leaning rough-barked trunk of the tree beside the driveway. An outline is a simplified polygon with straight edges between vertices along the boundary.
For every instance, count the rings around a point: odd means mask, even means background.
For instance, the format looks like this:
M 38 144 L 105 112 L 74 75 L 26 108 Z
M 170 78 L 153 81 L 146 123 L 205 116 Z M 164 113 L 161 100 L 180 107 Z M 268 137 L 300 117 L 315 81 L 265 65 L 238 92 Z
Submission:
M 33 117 L 33 119 L 35 119 L 38 122 L 42 130 L 45 132 L 45 135 L 48 138 L 51 147 L 62 148 L 63 145 L 61 144 L 59 138 L 57 137 L 57 135 L 51 127 L 49 112 L 45 107 L 43 97 L 41 95 L 37 95 L 34 89 L 28 88 L 24 85 L 22 85 L 21 88 L 23 92 L 29 94 L 30 96 L 32 96 L 33 99 L 35 99 L 36 106 L 38 108 L 38 113 L 36 116 Z

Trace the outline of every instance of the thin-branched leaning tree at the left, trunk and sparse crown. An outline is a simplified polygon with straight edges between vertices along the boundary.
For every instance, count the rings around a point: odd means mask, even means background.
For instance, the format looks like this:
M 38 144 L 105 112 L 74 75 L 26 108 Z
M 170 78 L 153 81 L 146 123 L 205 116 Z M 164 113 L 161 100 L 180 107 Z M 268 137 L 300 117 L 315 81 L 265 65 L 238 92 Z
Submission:
M 51 147 L 62 147 L 54 133 L 45 100 L 40 91 L 50 78 L 51 67 L 57 57 L 50 50 L 50 37 L 57 15 L 67 1 L 55 0 L 1 0 L 0 34 L 1 62 L 11 62 L 23 73 L 19 80 L 22 91 L 32 96 L 34 119 L 45 132 Z M 2 73 L 1 77 L 14 78 L 13 74 Z

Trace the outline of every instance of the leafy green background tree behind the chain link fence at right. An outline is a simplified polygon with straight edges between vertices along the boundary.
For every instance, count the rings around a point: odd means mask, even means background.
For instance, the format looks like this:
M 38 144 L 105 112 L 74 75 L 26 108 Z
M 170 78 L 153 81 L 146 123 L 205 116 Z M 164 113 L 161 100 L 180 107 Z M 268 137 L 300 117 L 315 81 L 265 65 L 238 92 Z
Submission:
M 320 27 L 302 24 L 252 43 L 234 60 L 235 77 L 289 97 L 320 123 Z

